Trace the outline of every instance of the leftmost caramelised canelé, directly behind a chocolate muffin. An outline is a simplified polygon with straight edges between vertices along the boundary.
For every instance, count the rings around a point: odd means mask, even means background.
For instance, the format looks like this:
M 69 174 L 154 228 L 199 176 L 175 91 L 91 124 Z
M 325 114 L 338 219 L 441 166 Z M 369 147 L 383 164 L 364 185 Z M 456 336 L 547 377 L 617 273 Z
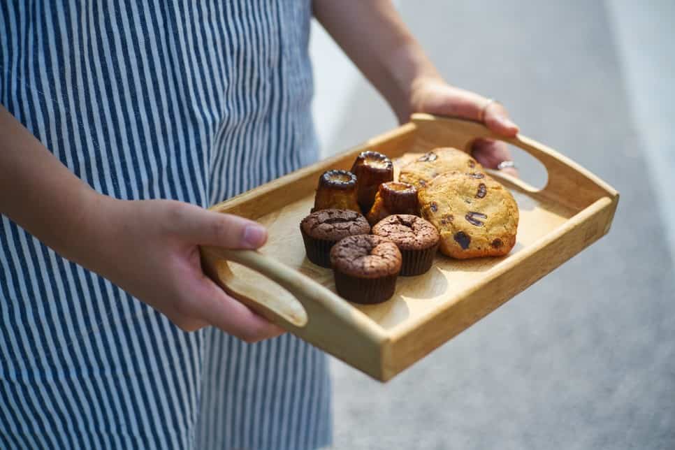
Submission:
M 356 201 L 356 175 L 347 170 L 327 170 L 321 174 L 312 212 L 327 209 L 361 212 Z

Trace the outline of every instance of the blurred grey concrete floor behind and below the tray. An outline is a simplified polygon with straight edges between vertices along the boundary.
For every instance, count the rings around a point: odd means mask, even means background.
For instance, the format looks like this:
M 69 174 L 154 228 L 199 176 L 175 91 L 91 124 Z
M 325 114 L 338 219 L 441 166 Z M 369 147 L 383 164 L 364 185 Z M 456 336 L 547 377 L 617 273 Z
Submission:
M 401 11 L 448 80 L 500 99 L 523 133 L 621 200 L 609 235 L 388 384 L 334 361 L 335 449 L 675 448 L 675 272 L 660 215 L 672 207 L 655 194 L 617 16 L 582 0 Z M 394 125 L 362 78 L 341 105 L 328 152 Z

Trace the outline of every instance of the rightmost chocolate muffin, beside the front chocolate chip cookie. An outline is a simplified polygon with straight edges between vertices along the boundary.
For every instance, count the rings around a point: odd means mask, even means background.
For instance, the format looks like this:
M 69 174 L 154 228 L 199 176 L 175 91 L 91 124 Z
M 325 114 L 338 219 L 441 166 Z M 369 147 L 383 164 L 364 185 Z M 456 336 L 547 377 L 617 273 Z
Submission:
M 426 273 L 431 268 L 440 235 L 435 226 L 414 215 L 391 215 L 372 227 L 372 234 L 387 238 L 401 251 L 403 264 L 400 275 Z

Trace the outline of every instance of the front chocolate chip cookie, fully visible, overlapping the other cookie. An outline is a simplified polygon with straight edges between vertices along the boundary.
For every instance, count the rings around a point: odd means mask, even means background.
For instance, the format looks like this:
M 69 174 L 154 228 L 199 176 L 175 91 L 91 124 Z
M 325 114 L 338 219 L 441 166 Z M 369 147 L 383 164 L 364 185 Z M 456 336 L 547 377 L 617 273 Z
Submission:
M 453 258 L 502 256 L 516 245 L 518 205 L 502 184 L 484 173 L 438 175 L 419 193 L 422 217 Z

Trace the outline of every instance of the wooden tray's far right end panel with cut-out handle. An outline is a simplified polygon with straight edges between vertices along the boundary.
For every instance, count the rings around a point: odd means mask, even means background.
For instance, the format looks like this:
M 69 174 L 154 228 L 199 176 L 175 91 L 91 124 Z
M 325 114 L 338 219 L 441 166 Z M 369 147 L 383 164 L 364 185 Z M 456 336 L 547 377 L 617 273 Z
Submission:
M 546 186 L 539 190 L 532 188 L 509 175 L 500 174 L 510 182 L 531 192 L 541 192 L 544 196 L 554 198 L 560 203 L 573 208 L 585 208 L 603 196 L 614 198 L 618 193 L 609 184 L 579 166 L 571 159 L 556 152 L 546 145 L 521 134 L 513 138 L 505 138 L 488 129 L 484 124 L 467 119 L 441 117 L 430 114 L 416 113 L 412 115 L 412 122 L 418 127 L 423 138 L 454 143 L 465 152 L 469 152 L 474 140 L 489 138 L 502 140 L 505 143 L 520 147 L 538 159 L 548 172 Z

